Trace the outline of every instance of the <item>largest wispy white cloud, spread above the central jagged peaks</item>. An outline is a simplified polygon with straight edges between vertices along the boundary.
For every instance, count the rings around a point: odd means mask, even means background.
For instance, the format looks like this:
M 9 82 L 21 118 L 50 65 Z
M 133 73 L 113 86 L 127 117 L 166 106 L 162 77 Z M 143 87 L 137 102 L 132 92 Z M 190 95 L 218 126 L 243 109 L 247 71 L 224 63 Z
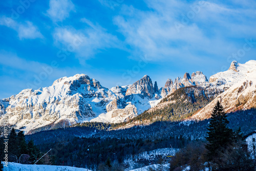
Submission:
M 126 6 L 123 11 L 126 11 L 127 15 L 115 17 L 114 22 L 126 37 L 126 43 L 140 51 L 139 53 L 155 57 L 157 60 L 178 57 L 181 53 L 191 56 L 187 47 L 197 46 L 207 39 L 196 25 L 186 26 L 186 32 L 179 34 L 174 25 L 176 20 L 169 15 L 172 9 L 165 9 L 166 13 L 162 13 L 162 7 L 159 7 L 158 12 L 144 12 Z M 132 16 L 129 16 L 131 14 Z

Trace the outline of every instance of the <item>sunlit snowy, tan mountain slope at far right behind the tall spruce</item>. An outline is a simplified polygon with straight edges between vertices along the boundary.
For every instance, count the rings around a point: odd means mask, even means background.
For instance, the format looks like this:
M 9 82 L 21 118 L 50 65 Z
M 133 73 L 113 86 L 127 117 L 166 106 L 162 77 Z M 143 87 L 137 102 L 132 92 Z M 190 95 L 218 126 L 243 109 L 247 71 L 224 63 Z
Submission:
M 210 82 L 228 89 L 191 119 L 209 118 L 218 100 L 226 112 L 256 108 L 256 60 L 244 64 L 233 61 L 228 71 L 211 76 Z

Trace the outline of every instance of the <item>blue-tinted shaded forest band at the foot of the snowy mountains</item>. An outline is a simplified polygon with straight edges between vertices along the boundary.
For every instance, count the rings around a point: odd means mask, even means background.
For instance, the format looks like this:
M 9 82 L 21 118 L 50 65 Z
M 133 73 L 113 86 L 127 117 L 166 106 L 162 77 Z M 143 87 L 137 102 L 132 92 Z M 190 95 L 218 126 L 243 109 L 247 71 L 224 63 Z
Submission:
M 229 127 L 237 130 L 239 126 L 244 134 L 256 130 L 256 109 L 237 111 L 228 114 Z M 26 135 L 27 140 L 33 139 L 35 144 L 66 141 L 74 137 L 129 138 L 129 139 L 159 139 L 163 137 L 179 137 L 204 139 L 208 119 L 203 121 L 157 121 L 151 125 L 134 126 L 129 129 L 111 130 L 111 124 L 87 123 L 83 126 L 68 127 L 42 131 Z

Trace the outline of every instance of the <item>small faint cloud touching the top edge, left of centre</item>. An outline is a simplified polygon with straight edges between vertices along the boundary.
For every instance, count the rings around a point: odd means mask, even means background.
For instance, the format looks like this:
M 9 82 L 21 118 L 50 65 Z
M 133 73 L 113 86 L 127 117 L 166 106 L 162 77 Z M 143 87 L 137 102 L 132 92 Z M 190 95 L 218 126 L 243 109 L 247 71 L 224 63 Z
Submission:
M 47 14 L 53 22 L 61 22 L 69 17 L 71 11 L 75 11 L 75 6 L 72 1 L 50 0 L 50 8 L 47 10 Z

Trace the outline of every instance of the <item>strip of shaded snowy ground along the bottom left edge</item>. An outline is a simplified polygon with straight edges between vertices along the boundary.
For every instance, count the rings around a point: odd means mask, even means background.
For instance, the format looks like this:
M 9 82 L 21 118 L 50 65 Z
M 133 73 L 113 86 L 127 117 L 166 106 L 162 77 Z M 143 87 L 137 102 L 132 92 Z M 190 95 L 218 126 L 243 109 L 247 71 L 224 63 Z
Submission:
M 32 165 L 32 164 L 19 164 L 8 163 L 8 167 L 4 166 L 4 171 L 87 171 L 86 168 L 70 167 L 70 166 L 53 166 L 53 165 Z M 91 171 L 88 169 L 88 171 Z

